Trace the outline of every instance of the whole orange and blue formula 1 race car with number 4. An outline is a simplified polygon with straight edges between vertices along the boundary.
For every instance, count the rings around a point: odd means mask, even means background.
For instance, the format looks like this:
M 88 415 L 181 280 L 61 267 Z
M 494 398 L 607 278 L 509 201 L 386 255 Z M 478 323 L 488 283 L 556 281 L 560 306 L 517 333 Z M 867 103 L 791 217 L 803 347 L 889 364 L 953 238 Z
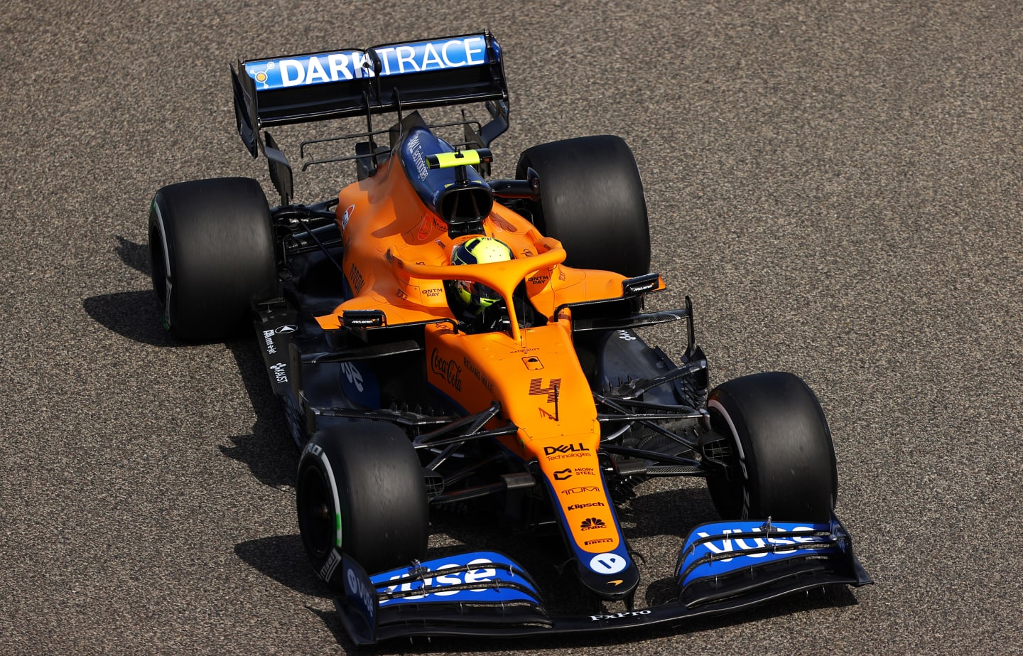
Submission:
M 688 297 L 647 308 L 665 282 L 625 142 L 537 145 L 515 179 L 489 179 L 508 125 L 490 33 L 238 61 L 232 81 L 238 132 L 280 205 L 248 178 L 162 188 L 153 288 L 180 339 L 255 322 L 302 448 L 302 541 L 355 644 L 619 629 L 871 582 L 833 512 L 835 452 L 810 389 L 768 373 L 708 390 Z M 419 113 L 469 103 L 489 122 Z M 396 119 L 375 129 L 382 114 Z M 300 152 L 303 170 L 350 162 L 356 180 L 294 204 L 265 129 L 353 118 L 365 130 Z M 354 154 L 310 155 L 344 143 Z M 678 362 L 639 336 L 671 321 L 687 336 Z M 705 478 L 722 521 L 680 545 L 672 599 L 639 608 L 618 511 L 673 476 Z M 548 613 L 503 553 L 431 556 L 431 513 L 454 504 L 560 535 L 552 562 L 572 563 L 595 612 Z

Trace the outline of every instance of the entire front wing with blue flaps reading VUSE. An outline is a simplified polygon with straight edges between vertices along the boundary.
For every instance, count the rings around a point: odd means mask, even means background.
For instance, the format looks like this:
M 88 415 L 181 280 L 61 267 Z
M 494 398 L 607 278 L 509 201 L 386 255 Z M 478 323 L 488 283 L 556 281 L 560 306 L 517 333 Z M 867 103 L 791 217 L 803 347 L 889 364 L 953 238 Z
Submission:
M 822 585 L 873 582 L 833 517 L 812 522 L 715 522 L 679 552 L 676 601 L 643 609 L 550 617 L 529 574 L 496 552 L 472 552 L 367 575 L 337 551 L 321 576 L 356 645 L 402 636 L 516 637 L 592 632 L 720 614 Z

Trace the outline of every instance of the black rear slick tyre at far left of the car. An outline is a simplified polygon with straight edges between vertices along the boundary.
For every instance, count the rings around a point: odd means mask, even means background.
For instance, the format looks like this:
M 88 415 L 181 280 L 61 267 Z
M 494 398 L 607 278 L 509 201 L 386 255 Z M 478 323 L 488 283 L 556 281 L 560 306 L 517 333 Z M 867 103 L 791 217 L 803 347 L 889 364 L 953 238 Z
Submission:
M 181 340 L 230 337 L 253 302 L 277 294 L 270 208 L 250 178 L 160 189 L 149 206 L 149 256 L 164 325 Z

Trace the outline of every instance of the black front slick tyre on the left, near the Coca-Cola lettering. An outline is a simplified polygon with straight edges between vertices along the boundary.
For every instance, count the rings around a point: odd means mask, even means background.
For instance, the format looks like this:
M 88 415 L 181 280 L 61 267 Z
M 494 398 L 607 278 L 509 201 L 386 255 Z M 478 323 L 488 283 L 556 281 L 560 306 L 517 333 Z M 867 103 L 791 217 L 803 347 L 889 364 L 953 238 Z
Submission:
M 427 488 L 404 432 L 383 423 L 317 432 L 299 461 L 299 529 L 319 573 L 338 548 L 369 573 L 421 559 Z

